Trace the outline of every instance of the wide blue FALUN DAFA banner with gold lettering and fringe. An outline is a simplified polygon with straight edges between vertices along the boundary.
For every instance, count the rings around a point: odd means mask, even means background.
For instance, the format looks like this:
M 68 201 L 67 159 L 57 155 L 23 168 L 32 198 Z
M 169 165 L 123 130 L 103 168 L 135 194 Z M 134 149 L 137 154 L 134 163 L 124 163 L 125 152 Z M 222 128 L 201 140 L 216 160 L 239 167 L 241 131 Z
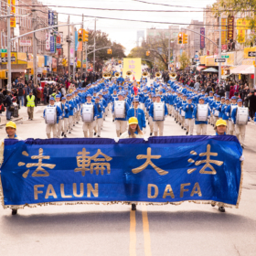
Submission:
M 242 149 L 235 136 L 5 140 L 4 208 L 183 201 L 236 206 Z

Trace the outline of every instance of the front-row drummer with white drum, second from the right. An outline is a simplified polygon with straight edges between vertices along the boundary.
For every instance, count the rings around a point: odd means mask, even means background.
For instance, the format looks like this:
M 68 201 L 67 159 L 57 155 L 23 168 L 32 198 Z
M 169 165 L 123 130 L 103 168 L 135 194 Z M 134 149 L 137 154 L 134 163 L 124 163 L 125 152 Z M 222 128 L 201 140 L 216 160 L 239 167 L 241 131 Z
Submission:
M 205 119 L 200 121 L 200 116 L 198 115 L 199 112 L 201 112 L 200 106 L 199 105 L 206 105 L 206 113 L 204 113 Z M 197 112 L 198 110 L 198 112 Z M 203 112 L 203 111 L 202 111 Z M 197 125 L 197 135 L 206 135 L 207 134 L 207 129 L 208 129 L 208 119 L 210 118 L 210 112 L 208 109 L 208 104 L 205 104 L 205 99 L 200 98 L 199 99 L 199 104 L 195 107 L 194 112 L 193 112 L 193 118 L 195 119 L 195 124 Z

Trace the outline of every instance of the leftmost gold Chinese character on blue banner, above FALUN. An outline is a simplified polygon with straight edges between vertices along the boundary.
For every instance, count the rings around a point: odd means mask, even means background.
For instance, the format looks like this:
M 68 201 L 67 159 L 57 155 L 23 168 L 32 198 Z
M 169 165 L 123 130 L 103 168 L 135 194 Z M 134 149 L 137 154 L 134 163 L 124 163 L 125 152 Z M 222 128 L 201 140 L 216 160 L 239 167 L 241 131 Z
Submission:
M 52 165 L 52 164 L 43 164 L 43 159 L 49 159 L 49 155 L 43 155 L 44 153 L 44 150 L 42 148 L 39 149 L 39 155 L 32 155 L 31 156 L 31 159 L 38 159 L 38 163 L 29 163 L 26 165 L 27 168 L 30 168 L 30 167 L 34 167 L 34 166 L 37 166 L 37 169 L 32 173 L 32 176 L 49 176 L 49 173 L 48 171 L 46 171 L 44 167 L 48 167 L 50 169 L 53 169 L 56 165 Z M 22 155 L 26 155 L 28 156 L 27 152 L 23 152 Z M 22 162 L 19 162 L 17 164 L 18 166 L 22 166 L 22 165 L 25 165 L 25 163 L 22 163 Z M 38 174 L 38 172 L 42 172 L 43 174 Z M 22 176 L 24 178 L 27 178 L 28 176 L 28 173 L 29 173 L 29 170 L 27 170 Z

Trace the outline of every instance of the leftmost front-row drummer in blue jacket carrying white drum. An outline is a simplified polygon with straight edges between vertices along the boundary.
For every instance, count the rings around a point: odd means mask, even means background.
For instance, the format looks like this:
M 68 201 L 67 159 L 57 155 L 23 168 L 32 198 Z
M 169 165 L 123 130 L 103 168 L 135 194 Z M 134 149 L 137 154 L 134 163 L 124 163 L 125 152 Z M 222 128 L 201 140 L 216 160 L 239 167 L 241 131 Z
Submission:
M 51 132 L 53 133 L 53 138 L 57 138 L 57 125 L 59 123 L 59 117 L 62 116 L 62 112 L 59 106 L 55 105 L 55 100 L 53 97 L 49 99 L 49 105 L 44 110 L 44 119 L 47 123 L 47 136 L 48 139 L 51 137 Z

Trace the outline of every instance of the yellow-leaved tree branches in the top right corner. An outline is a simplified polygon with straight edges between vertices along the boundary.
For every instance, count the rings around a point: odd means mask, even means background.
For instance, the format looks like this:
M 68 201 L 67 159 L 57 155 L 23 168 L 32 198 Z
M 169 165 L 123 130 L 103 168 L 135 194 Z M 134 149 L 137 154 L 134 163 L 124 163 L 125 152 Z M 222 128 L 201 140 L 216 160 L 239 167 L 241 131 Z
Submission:
M 223 13 L 227 16 L 234 16 L 240 13 L 244 17 L 244 20 L 248 20 L 248 29 L 251 29 L 251 34 L 245 39 L 244 44 L 246 46 L 255 45 L 256 34 L 252 32 L 256 28 L 255 10 L 256 0 L 219 0 L 212 5 L 212 11 L 216 17 L 219 17 Z M 240 35 L 237 37 L 238 41 L 243 41 L 243 39 Z

